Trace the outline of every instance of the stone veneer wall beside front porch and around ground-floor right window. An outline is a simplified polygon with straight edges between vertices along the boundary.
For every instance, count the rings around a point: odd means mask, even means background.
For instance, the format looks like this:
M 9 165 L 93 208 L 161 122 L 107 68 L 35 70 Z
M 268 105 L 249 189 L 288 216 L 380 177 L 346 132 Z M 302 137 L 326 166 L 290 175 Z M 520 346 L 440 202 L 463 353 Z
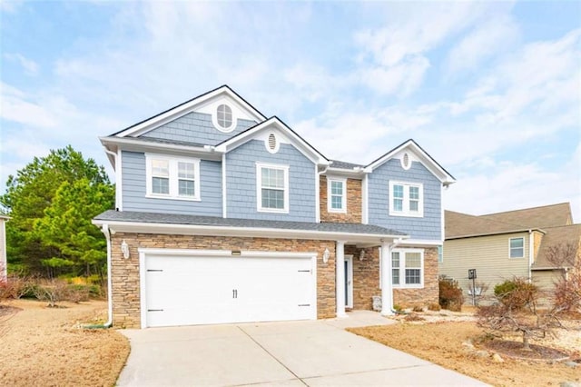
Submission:
M 412 246 L 409 246 L 410 248 Z M 353 309 L 372 309 L 374 295 L 379 289 L 379 248 L 365 250 L 365 258 L 359 261 L 360 249 L 345 246 L 345 254 L 353 255 Z M 438 248 L 424 249 L 424 287 L 422 289 L 394 289 L 393 303 L 402 308 L 428 306 L 438 303 Z

